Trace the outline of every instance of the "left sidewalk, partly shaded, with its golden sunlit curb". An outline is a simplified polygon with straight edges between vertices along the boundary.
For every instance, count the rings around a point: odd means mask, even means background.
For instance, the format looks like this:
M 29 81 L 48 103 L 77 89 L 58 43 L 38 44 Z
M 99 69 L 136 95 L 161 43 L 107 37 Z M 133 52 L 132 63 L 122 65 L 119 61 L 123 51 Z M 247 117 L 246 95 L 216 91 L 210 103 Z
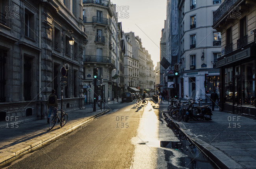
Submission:
M 59 123 L 56 122 L 54 128 L 50 131 L 47 119 L 33 120 L 22 124 L 8 124 L 6 128 L 0 129 L 0 164 L 70 133 L 108 111 L 107 107 L 105 107 L 105 111 L 103 109 L 100 111 L 96 107 L 96 112 L 93 112 L 93 109 L 86 105 L 85 109 L 67 113 L 68 122 L 65 126 L 60 128 Z

